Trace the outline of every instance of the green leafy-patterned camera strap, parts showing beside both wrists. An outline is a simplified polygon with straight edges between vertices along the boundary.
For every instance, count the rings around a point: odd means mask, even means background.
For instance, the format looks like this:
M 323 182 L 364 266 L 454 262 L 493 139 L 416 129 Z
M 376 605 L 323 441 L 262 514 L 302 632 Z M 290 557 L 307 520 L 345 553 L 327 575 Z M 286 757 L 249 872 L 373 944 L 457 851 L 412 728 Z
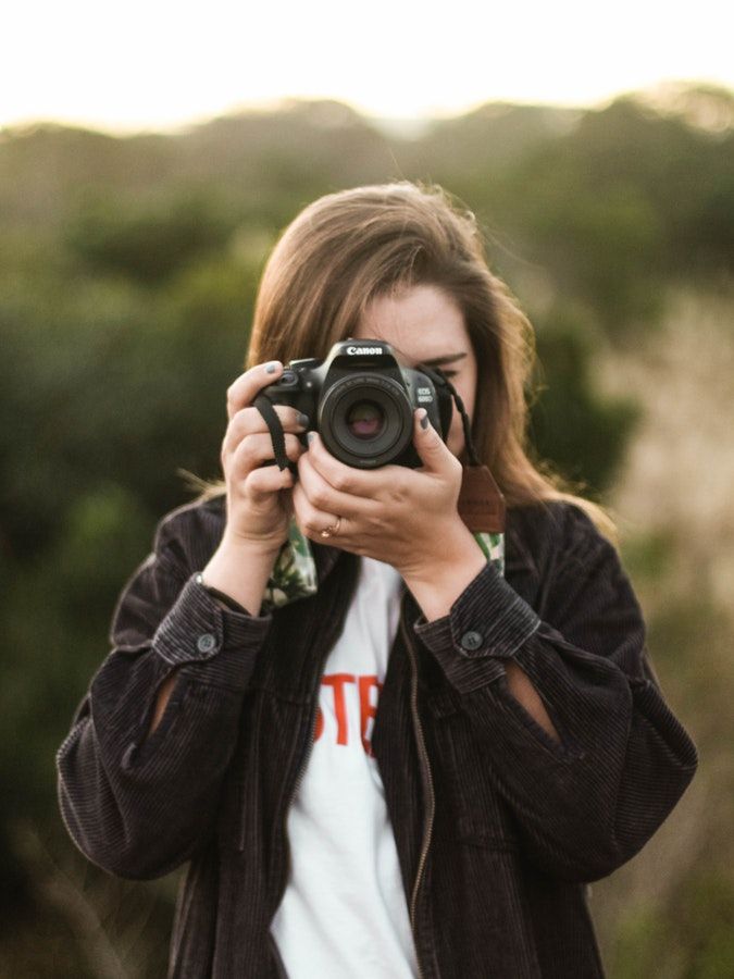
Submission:
M 474 537 L 489 563 L 505 574 L 505 534 L 475 533 Z M 319 586 L 316 565 L 311 542 L 300 532 L 295 518 L 290 519 L 288 540 L 281 548 L 275 567 L 265 587 L 262 611 L 288 605 L 298 598 L 315 595 Z

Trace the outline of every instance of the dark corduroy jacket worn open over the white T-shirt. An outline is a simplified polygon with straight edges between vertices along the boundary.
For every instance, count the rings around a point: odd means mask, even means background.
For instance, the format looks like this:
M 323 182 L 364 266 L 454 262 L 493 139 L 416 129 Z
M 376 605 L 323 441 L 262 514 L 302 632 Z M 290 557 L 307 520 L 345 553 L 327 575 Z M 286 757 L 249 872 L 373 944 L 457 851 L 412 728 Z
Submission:
M 196 578 L 224 520 L 219 499 L 159 524 L 59 751 L 60 804 L 112 873 L 188 863 L 170 976 L 270 979 L 287 811 L 359 558 L 314 543 L 315 596 L 240 614 Z M 560 743 L 509 693 L 508 659 Z M 506 578 L 487 565 L 449 615 L 426 622 L 403 590 L 372 746 L 426 979 L 601 976 L 585 883 L 637 853 L 696 767 L 617 552 L 564 503 L 511 509 Z

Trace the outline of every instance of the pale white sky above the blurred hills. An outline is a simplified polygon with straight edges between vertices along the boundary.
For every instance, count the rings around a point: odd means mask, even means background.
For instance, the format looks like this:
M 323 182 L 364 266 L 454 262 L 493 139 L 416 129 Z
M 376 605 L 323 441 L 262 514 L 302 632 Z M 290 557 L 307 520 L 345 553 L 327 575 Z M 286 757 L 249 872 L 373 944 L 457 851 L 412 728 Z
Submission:
M 23 0 L 0 17 L 0 126 L 174 128 L 288 97 L 370 115 L 507 100 L 599 104 L 691 79 L 734 88 L 724 0 Z

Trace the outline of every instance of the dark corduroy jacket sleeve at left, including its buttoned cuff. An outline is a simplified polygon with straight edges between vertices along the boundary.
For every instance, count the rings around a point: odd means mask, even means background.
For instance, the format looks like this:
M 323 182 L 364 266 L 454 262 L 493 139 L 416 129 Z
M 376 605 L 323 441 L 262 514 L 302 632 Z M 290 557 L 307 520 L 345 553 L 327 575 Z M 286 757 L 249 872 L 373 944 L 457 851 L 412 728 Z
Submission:
M 57 756 L 70 834 L 121 877 L 166 873 L 207 842 L 272 620 L 223 608 L 197 582 L 175 533 L 185 517 L 161 523 L 153 553 L 125 586 L 112 652 Z M 158 691 L 175 669 L 148 738 Z

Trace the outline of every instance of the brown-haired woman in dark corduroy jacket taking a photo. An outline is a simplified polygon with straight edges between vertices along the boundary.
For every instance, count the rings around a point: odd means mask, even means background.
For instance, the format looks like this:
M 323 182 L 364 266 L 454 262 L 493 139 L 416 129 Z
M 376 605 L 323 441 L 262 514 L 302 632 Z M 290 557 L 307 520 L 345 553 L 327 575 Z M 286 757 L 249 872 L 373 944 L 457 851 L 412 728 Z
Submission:
M 528 331 L 438 190 L 331 195 L 274 249 L 223 490 L 161 522 L 59 754 L 90 859 L 190 862 L 172 976 L 602 975 L 584 884 L 644 845 L 696 753 L 609 522 L 525 455 Z M 446 368 L 507 503 L 505 577 L 459 516 L 458 413 L 444 441 L 416 409 L 422 464 L 366 471 L 278 406 L 291 466 L 263 464 L 256 397 L 347 337 Z M 278 604 L 294 528 L 315 588 Z

